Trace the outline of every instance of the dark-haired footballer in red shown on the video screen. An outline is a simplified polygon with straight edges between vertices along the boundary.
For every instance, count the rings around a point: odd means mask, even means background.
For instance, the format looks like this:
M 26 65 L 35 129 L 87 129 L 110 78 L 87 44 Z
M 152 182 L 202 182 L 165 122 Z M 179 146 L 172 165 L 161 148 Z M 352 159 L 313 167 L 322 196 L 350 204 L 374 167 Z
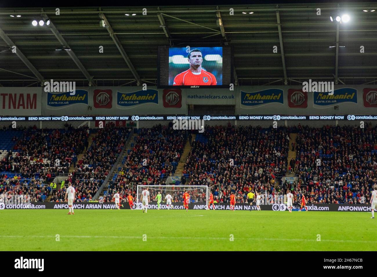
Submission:
M 216 86 L 215 75 L 202 69 L 203 54 L 200 49 L 192 49 L 187 59 L 190 68 L 174 78 L 173 86 Z

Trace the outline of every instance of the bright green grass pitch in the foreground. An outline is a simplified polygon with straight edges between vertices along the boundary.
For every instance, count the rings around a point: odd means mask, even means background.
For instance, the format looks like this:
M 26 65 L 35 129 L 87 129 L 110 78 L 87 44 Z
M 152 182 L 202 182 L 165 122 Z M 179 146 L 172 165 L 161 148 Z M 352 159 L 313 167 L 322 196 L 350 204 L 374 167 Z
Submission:
M 151 209 L 147 214 L 141 210 L 77 209 L 74 215 L 67 212 L 0 211 L 2 250 L 374 251 L 377 241 L 376 219 L 370 219 L 371 213 L 362 212 L 290 214 Z

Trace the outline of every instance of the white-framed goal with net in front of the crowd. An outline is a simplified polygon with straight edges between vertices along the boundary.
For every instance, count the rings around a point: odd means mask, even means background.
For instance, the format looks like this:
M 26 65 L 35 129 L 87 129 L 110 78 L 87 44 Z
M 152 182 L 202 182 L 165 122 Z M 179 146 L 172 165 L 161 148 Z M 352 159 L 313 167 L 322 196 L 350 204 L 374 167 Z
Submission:
M 160 209 L 174 209 L 174 210 L 184 210 L 184 199 L 183 194 L 187 190 L 190 194 L 189 210 L 205 210 L 208 207 L 208 198 L 210 195 L 210 188 L 207 186 L 187 186 L 187 185 L 176 185 L 176 186 L 166 186 L 166 185 L 138 185 L 137 186 L 137 207 L 142 207 L 141 202 L 141 192 L 148 187 L 150 202 L 148 203 L 149 209 L 157 209 L 157 194 L 161 193 L 161 203 Z M 172 196 L 172 205 L 167 207 L 166 196 L 170 194 Z M 140 204 L 139 204 L 140 203 Z

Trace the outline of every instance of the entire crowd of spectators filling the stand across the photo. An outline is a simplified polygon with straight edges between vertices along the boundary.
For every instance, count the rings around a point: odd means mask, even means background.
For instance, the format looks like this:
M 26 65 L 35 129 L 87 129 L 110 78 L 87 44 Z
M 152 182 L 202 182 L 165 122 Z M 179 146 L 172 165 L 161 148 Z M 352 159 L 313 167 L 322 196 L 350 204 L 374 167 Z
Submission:
M 0 161 L 0 194 L 27 194 L 32 200 L 42 201 L 52 193 L 51 201 L 63 201 L 66 187 L 52 191 L 49 183 L 59 170 L 67 172 L 74 162 L 75 170 L 66 185 L 72 182 L 78 202 L 92 201 L 121 153 L 128 131 L 107 124 L 97 130 L 90 147 L 89 132 L 87 128 L 70 127 L 67 131 L 24 130 L 20 140 L 13 138 L 18 140 L 14 151 Z M 297 133 L 296 144 L 290 143 L 291 133 Z M 231 192 L 236 194 L 237 203 L 247 203 L 250 191 L 273 197 L 290 191 L 295 204 L 300 203 L 302 195 L 308 204 L 366 204 L 371 187 L 377 182 L 376 135 L 377 127 L 370 125 L 364 129 L 300 124 L 279 128 L 206 126 L 205 132 L 192 142 L 181 181 L 185 185 L 211 187 L 219 203 L 229 202 Z M 164 185 L 164 177 L 175 172 L 187 137 L 189 133 L 161 124 L 140 129 L 116 178 L 110 180 L 104 202 L 112 201 L 114 190 L 126 199 L 128 192 L 136 196 L 137 185 Z M 77 155 L 85 148 L 84 157 L 77 161 Z M 297 150 L 297 157 L 288 165 L 290 148 Z M 55 164 L 57 159 L 59 166 Z M 294 184 L 279 183 L 287 173 L 287 165 L 297 176 Z M 22 174 L 9 178 L 5 171 Z M 176 191 L 172 196 L 175 201 L 181 197 Z M 205 202 L 204 191 L 193 191 L 192 201 Z

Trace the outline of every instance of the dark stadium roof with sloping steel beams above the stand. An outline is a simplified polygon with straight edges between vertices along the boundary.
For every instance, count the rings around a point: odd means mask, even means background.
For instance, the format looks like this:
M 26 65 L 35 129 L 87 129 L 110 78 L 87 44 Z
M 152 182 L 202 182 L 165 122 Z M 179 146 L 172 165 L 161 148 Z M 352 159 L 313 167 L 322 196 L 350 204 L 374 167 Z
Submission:
M 377 3 L 75 7 L 61 8 L 60 15 L 55 8 L 0 8 L 0 86 L 50 79 L 77 86 L 156 84 L 157 46 L 190 44 L 232 45 L 240 85 L 294 85 L 309 78 L 375 83 L 377 11 L 371 10 Z M 343 14 L 348 23 L 330 21 Z M 51 24 L 32 26 L 41 18 Z M 16 53 L 9 50 L 13 45 Z M 71 50 L 55 50 L 62 46 Z

